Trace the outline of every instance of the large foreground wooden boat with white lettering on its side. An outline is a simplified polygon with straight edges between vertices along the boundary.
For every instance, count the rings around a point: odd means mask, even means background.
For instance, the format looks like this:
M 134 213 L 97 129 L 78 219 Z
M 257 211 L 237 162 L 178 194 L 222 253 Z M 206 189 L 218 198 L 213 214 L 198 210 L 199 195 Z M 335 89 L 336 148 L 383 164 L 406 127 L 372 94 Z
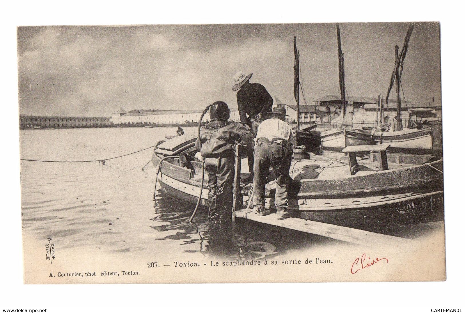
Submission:
M 200 203 L 207 206 L 208 186 L 200 186 L 200 162 L 192 161 L 193 169 L 188 169 L 176 158 L 195 153 L 195 140 L 187 134 L 166 140 L 154 149 L 152 162 L 160 166 L 158 182 L 164 194 L 195 204 L 202 187 Z M 166 156 L 174 158 L 159 165 Z M 355 228 L 444 220 L 442 159 L 418 165 L 391 163 L 385 171 L 372 161 L 359 160 L 359 171 L 351 175 L 342 160 L 321 156 L 293 160 L 289 192 L 293 217 Z M 269 177 L 266 208 L 273 212 L 275 182 L 271 172 Z M 250 186 L 242 188 L 243 208 L 249 191 Z

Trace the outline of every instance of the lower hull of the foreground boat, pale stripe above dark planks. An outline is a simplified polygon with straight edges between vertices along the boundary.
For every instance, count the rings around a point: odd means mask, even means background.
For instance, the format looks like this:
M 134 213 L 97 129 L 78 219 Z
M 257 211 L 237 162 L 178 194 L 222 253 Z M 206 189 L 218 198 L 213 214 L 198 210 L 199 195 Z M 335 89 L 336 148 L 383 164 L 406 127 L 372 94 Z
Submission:
M 166 175 L 159 175 L 159 186 L 164 195 L 195 205 L 200 188 L 180 183 Z M 409 225 L 444 220 L 444 192 L 424 194 L 390 195 L 383 197 L 347 198 L 339 205 L 334 199 L 319 199 L 315 205 L 313 199 L 290 200 L 289 210 L 292 217 L 314 220 L 339 226 L 375 230 L 379 227 Z M 376 199 L 379 198 L 379 199 Z M 243 199 L 246 208 L 248 197 Z M 204 188 L 201 206 L 208 206 L 208 189 Z M 266 198 L 265 208 L 269 213 L 276 211 L 272 198 Z

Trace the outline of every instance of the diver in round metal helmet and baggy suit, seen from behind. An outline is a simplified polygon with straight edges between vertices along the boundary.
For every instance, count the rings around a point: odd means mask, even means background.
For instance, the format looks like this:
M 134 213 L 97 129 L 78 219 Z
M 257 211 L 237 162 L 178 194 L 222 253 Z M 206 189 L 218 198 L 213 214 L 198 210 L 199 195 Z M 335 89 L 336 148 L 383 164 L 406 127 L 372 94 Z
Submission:
M 205 158 L 208 173 L 208 217 L 231 214 L 233 206 L 234 145 L 253 147 L 253 135 L 242 124 L 228 122 L 231 112 L 223 101 L 210 107 L 210 119 L 200 130 L 195 147 Z

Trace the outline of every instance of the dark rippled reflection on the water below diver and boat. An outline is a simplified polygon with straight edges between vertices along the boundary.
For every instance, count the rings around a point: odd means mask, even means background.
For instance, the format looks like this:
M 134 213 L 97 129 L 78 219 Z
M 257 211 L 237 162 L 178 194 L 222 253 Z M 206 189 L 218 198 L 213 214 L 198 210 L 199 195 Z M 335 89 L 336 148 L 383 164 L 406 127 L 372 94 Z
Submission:
M 152 226 L 154 231 L 163 233 L 178 230 L 158 240 L 182 241 L 181 245 L 191 247 L 196 244 L 196 250 L 186 249 L 184 252 L 201 253 L 204 258 L 260 260 L 285 254 L 288 249 L 329 240 L 246 220 L 236 222 L 235 225 L 229 219 L 211 221 L 208 220 L 206 208 L 199 209 L 191 224 L 189 218 L 193 205 L 173 200 L 163 192 L 157 193 L 154 209 L 156 217 L 153 219 L 160 222 Z

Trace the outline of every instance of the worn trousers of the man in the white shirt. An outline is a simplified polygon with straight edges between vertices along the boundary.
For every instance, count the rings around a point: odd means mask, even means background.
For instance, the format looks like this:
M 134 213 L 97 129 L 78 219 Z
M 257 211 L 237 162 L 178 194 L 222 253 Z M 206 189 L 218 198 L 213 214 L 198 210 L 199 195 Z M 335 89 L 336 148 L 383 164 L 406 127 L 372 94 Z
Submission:
M 265 205 L 265 184 L 266 176 L 270 166 L 276 176 L 276 193 L 274 204 L 277 208 L 287 209 L 287 193 L 289 191 L 289 168 L 291 167 L 291 157 L 287 148 L 279 143 L 270 142 L 267 139 L 257 140 L 254 152 L 254 176 L 253 176 L 253 206 Z

